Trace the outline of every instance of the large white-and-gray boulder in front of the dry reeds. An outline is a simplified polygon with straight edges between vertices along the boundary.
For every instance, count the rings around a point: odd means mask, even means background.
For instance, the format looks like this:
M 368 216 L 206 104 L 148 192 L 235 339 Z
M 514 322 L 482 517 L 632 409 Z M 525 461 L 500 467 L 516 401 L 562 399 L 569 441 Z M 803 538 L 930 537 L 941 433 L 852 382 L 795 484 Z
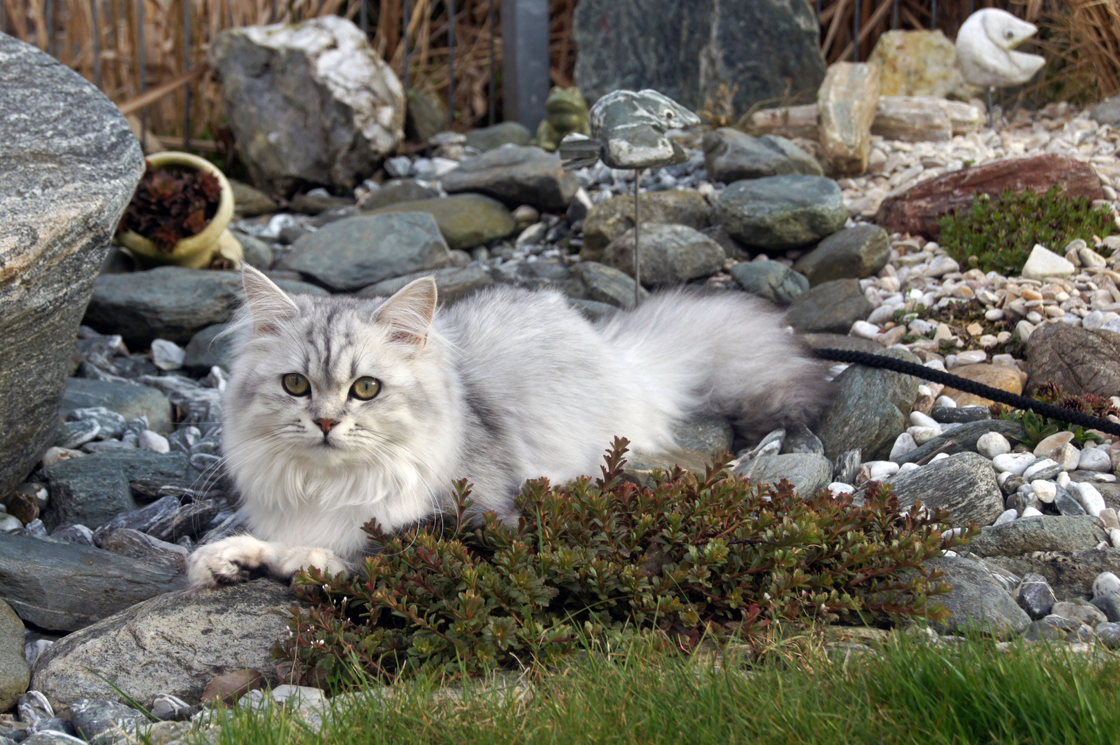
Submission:
M 352 188 L 403 137 L 401 82 L 338 16 L 226 29 L 211 44 L 209 63 L 237 153 L 272 195 Z

